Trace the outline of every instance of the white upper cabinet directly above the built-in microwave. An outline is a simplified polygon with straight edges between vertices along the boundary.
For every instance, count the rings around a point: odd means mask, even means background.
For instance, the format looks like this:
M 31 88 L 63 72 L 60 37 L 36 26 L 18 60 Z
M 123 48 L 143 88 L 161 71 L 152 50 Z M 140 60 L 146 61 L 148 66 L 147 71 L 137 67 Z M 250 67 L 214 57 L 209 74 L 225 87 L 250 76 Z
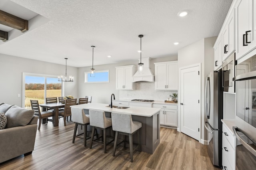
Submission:
M 235 12 L 230 12 L 226 26 L 223 30 L 223 58 L 224 61 L 230 54 L 235 51 Z

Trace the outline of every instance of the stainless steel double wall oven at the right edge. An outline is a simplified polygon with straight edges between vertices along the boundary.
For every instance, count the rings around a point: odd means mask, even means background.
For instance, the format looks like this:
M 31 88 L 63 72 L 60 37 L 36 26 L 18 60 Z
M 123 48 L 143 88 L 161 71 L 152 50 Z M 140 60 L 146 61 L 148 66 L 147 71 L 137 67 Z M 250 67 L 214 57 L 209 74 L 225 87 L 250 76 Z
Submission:
M 236 169 L 250 170 L 256 168 L 256 55 L 236 62 L 236 116 L 242 119 L 240 127 L 233 127 Z

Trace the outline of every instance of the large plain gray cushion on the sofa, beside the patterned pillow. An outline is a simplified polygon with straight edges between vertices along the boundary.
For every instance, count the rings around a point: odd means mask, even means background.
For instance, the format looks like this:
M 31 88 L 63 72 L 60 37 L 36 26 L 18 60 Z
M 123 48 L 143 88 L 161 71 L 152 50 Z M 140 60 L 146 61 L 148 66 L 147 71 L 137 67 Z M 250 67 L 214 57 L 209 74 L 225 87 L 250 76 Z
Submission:
M 18 106 L 11 107 L 5 115 L 7 116 L 6 128 L 25 126 L 34 116 L 34 110 L 24 109 Z

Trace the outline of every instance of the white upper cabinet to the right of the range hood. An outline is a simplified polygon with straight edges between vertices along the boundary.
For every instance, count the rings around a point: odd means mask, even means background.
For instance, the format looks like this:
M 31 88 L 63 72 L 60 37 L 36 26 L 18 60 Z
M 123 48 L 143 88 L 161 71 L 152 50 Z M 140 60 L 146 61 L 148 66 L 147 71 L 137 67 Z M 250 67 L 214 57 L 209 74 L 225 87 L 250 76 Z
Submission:
M 155 64 L 155 90 L 178 90 L 178 61 Z

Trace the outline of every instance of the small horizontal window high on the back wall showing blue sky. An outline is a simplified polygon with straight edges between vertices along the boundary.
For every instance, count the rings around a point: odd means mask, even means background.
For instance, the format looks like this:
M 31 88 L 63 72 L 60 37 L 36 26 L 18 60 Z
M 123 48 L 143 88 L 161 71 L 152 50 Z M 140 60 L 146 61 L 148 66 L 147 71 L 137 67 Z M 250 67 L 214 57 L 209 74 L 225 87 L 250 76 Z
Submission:
M 108 83 L 109 70 L 95 71 L 95 77 L 90 77 L 90 71 L 84 72 L 84 83 Z

